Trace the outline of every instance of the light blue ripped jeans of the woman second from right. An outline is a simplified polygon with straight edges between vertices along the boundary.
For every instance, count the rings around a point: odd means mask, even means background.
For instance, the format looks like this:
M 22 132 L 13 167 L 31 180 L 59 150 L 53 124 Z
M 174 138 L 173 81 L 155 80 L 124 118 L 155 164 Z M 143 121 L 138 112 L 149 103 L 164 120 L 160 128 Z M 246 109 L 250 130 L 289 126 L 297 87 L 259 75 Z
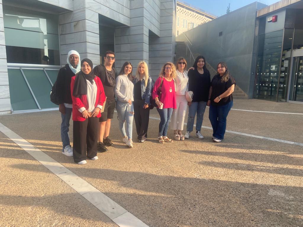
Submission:
M 187 118 L 186 131 L 192 132 L 192 130 L 194 129 L 196 113 L 197 113 L 196 130 L 201 131 L 206 103 L 207 102 L 204 102 L 204 101 L 191 102 L 191 105 L 188 107 L 188 118 Z

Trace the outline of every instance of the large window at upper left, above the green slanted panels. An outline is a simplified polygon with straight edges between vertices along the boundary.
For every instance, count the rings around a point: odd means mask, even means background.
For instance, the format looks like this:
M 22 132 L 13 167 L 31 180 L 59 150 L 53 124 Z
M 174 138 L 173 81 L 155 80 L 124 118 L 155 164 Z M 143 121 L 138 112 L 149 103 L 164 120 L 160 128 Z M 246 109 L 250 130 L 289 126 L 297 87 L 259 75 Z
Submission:
M 8 63 L 60 65 L 58 16 L 3 5 Z

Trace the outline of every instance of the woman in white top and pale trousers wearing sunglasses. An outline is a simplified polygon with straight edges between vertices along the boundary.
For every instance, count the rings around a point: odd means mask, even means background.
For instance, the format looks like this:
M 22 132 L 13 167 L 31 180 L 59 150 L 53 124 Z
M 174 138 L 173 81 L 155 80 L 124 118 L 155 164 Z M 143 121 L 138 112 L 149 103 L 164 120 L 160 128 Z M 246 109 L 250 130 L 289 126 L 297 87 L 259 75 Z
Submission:
M 185 98 L 185 92 L 187 90 L 188 76 L 187 76 L 187 62 L 185 58 L 178 59 L 177 64 L 177 77 L 176 81 L 176 109 L 172 111 L 171 115 L 171 129 L 174 130 L 175 140 L 184 140 L 182 134 L 184 118 L 187 109 L 187 100 Z

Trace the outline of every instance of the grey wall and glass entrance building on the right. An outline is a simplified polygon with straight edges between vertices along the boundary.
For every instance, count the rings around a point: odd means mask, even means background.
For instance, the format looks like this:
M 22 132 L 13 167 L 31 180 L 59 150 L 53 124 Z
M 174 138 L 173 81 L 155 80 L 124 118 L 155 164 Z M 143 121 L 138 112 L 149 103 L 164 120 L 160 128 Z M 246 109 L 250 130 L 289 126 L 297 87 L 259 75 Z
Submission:
M 254 2 L 184 34 L 213 68 L 225 61 L 248 98 L 303 104 L 302 13 L 302 0 Z

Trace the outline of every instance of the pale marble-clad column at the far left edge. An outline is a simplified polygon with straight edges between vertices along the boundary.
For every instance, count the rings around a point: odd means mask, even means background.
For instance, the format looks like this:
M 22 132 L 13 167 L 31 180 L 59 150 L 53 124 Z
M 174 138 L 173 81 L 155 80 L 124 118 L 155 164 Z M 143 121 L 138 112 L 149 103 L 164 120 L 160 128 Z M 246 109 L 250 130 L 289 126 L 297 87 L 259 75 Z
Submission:
M 2 0 L 0 0 L 0 114 L 7 113 L 11 113 L 11 100 L 8 86 L 3 9 Z

